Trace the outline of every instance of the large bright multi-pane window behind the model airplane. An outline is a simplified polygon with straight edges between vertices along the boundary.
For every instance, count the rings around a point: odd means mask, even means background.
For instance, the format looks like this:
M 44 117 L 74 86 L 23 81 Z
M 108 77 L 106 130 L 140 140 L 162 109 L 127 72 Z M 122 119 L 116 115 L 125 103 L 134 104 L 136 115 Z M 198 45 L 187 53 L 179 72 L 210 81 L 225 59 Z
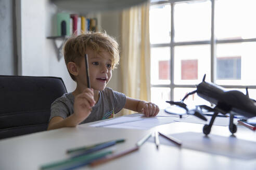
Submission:
M 151 101 L 161 109 L 181 100 L 195 84 L 249 89 L 256 98 L 256 1 L 151 0 Z M 239 11 L 239 12 L 238 12 Z M 208 104 L 197 94 L 186 104 Z

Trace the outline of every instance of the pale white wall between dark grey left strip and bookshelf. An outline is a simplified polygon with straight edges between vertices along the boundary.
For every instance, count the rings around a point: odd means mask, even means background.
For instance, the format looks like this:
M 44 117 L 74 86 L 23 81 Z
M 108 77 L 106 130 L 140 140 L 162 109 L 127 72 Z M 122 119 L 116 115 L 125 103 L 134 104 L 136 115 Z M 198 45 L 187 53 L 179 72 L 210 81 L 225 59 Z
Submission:
M 21 0 L 17 3 L 18 74 L 22 76 L 61 77 L 67 90 L 75 83 L 70 78 L 65 61 L 58 61 L 54 40 L 54 15 L 57 8 L 48 0 Z M 56 35 L 56 34 L 55 34 Z M 19 49 L 20 48 L 20 49 Z

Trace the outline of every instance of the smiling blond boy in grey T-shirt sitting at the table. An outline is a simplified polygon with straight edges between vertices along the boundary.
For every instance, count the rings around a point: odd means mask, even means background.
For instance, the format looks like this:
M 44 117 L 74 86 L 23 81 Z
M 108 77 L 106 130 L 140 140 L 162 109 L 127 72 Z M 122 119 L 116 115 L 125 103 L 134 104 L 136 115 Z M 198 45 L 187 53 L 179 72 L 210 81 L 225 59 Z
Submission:
M 106 87 L 112 69 L 119 62 L 118 43 L 109 35 L 88 33 L 71 37 L 63 52 L 76 89 L 54 101 L 48 130 L 107 119 L 122 108 L 142 112 L 146 117 L 158 114 L 157 105 L 126 97 Z M 88 56 L 91 89 L 87 88 L 85 54 Z

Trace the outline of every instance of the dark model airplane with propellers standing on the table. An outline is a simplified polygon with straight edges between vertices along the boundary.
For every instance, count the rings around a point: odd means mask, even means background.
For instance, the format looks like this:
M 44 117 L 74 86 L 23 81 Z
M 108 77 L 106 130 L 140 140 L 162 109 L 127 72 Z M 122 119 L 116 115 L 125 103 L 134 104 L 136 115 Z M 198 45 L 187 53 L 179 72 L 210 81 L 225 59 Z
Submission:
M 216 84 L 204 81 L 206 75 L 203 76 L 202 82 L 196 85 L 197 90 L 188 93 L 181 102 L 167 101 L 171 105 L 177 105 L 186 110 L 186 114 L 194 115 L 202 120 L 207 120 L 202 115 L 202 109 L 208 112 L 214 112 L 209 124 L 203 126 L 203 133 L 208 135 L 211 132 L 212 124 L 218 114 L 229 114 L 229 131 L 234 134 L 237 131 L 237 126 L 233 123 L 234 115 L 244 116 L 249 119 L 256 116 L 256 101 L 249 98 L 248 89 L 246 95 L 237 90 L 225 91 L 222 87 Z M 189 110 L 184 100 L 191 94 L 197 93 L 198 96 L 215 105 L 214 108 L 207 105 L 196 106 L 195 109 Z

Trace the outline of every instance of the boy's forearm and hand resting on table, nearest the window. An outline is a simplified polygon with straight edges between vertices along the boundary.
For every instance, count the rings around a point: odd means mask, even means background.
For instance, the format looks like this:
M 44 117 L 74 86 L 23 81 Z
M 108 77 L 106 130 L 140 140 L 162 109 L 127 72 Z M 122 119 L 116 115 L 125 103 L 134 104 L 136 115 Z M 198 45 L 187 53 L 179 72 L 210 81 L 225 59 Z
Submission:
M 124 108 L 137 112 L 142 112 L 146 117 L 156 116 L 159 112 L 159 107 L 156 104 L 146 101 L 140 101 L 127 96 Z

